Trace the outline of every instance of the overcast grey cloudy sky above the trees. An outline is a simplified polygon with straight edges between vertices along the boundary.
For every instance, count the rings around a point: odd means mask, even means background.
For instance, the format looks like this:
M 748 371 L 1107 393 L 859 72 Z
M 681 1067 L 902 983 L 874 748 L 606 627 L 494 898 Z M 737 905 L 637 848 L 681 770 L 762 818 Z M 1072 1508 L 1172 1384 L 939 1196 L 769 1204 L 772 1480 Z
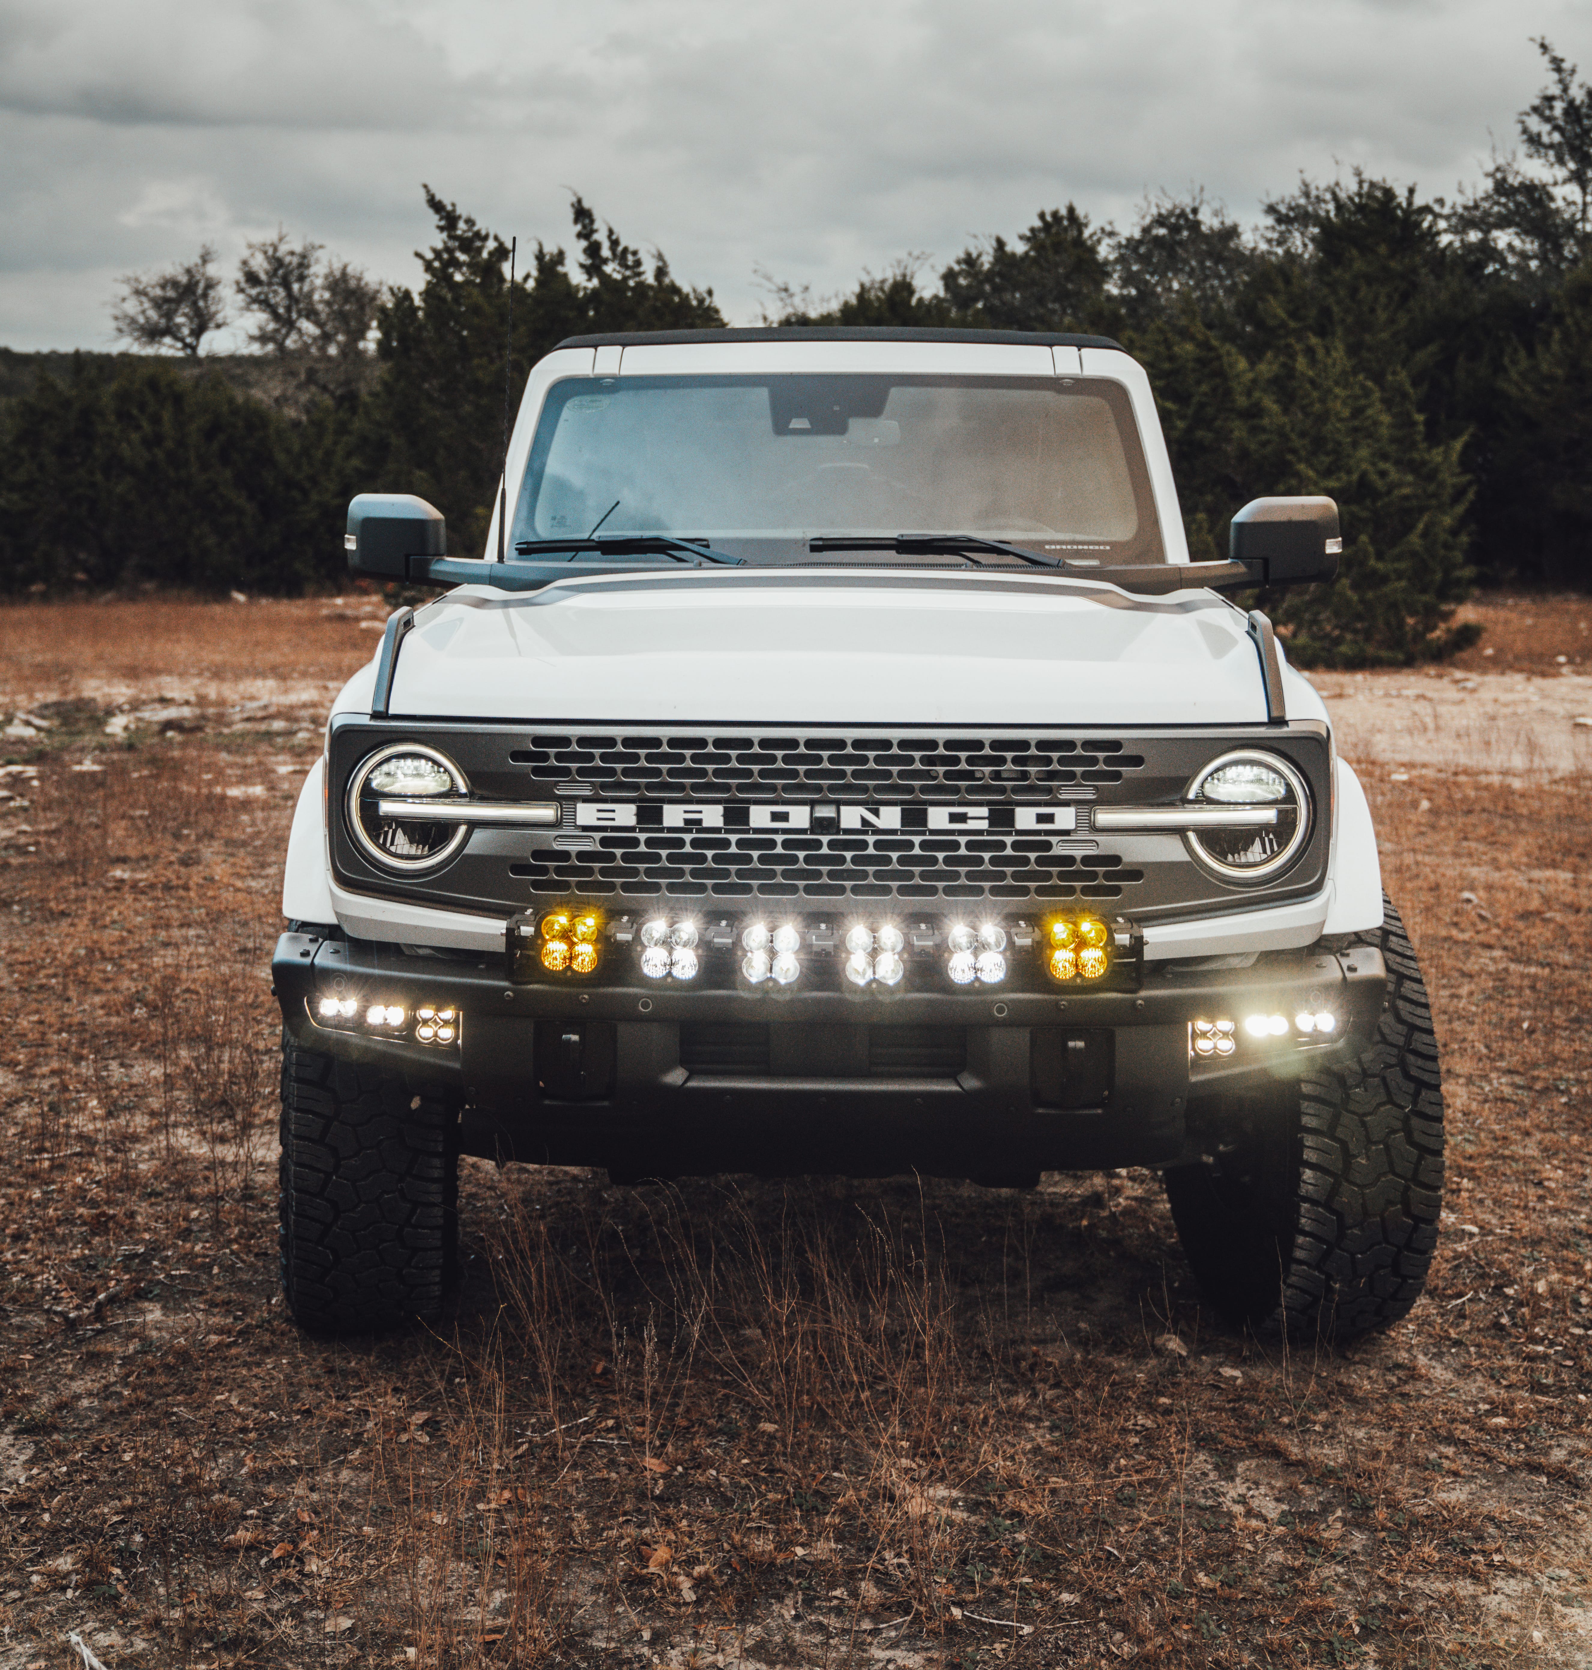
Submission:
M 0 344 L 277 225 L 418 281 L 421 180 L 521 244 L 581 192 L 757 321 L 1076 200 L 1240 217 L 1355 165 L 1452 194 L 1585 0 L 0 0 Z

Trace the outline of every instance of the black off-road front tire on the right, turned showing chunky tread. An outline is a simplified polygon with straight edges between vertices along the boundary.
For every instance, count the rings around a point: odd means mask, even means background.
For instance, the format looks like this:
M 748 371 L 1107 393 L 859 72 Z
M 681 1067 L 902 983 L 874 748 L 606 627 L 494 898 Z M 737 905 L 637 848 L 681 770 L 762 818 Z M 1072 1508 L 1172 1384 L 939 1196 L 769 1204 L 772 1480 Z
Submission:
M 1335 942 L 1336 944 L 1336 942 Z M 1443 1196 L 1443 1091 L 1432 1005 L 1393 902 L 1375 945 L 1388 984 L 1353 1062 L 1224 1107 L 1214 1157 L 1166 1172 L 1178 1237 L 1229 1319 L 1290 1338 L 1351 1339 L 1420 1298 Z

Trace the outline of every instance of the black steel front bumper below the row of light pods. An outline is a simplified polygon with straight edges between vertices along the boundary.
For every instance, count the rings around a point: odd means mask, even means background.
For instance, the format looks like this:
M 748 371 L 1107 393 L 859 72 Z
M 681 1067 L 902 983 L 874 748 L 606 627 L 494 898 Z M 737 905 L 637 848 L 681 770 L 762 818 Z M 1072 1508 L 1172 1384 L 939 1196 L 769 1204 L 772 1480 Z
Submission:
M 1358 1052 L 1383 1005 L 1378 952 L 1273 952 L 1250 967 L 1151 964 L 1139 990 L 748 994 L 673 984 L 513 984 L 503 954 L 413 955 L 284 934 L 282 1020 L 306 1049 L 441 1086 L 466 1152 L 618 1174 L 917 1169 L 981 1181 L 1168 1166 L 1189 1111 Z M 321 1019 L 327 999 L 352 1019 Z M 456 1037 L 371 1007 L 451 1009 Z M 1251 1037 L 1251 1015 L 1330 1014 L 1331 1034 Z M 1199 1059 L 1194 1025 L 1235 1024 Z M 1224 1034 L 1226 1035 L 1226 1034 Z

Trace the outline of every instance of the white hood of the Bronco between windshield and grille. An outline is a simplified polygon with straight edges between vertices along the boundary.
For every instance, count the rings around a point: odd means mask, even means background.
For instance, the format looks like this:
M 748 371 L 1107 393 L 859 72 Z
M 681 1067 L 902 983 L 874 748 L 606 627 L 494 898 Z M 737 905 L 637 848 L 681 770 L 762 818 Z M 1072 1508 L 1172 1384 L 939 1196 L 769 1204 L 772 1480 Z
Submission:
M 1291 680 L 1290 680 L 1291 683 Z M 347 698 L 368 700 L 366 678 Z M 342 703 L 339 703 L 342 706 Z M 1042 576 L 615 576 L 461 586 L 403 643 L 389 711 L 844 725 L 1255 725 L 1243 613 Z

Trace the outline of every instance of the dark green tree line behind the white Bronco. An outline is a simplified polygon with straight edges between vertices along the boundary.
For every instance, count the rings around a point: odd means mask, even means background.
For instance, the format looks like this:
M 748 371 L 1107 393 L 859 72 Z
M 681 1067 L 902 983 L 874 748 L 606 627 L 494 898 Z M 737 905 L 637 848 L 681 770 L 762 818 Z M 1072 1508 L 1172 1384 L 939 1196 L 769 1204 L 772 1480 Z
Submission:
M 1472 584 L 1592 579 L 1592 89 L 1547 80 L 1455 200 L 1355 172 L 1301 180 L 1243 225 L 1194 192 L 1128 229 L 1072 204 L 937 272 L 902 259 L 835 297 L 767 281 L 770 324 L 1088 331 L 1149 371 L 1194 558 L 1251 498 L 1343 508 L 1338 584 L 1263 600 L 1308 661 L 1442 655 Z M 139 583 L 294 591 L 342 573 L 361 489 L 436 503 L 478 549 L 501 459 L 508 245 L 429 189 L 416 289 L 316 244 L 214 250 L 124 281 L 135 349 L 40 372 L 0 416 L 0 591 Z M 571 204 L 571 250 L 515 279 L 516 386 L 561 337 L 718 327 Z M 237 306 L 249 352 L 204 344 Z M 154 351 L 154 352 L 149 352 Z

